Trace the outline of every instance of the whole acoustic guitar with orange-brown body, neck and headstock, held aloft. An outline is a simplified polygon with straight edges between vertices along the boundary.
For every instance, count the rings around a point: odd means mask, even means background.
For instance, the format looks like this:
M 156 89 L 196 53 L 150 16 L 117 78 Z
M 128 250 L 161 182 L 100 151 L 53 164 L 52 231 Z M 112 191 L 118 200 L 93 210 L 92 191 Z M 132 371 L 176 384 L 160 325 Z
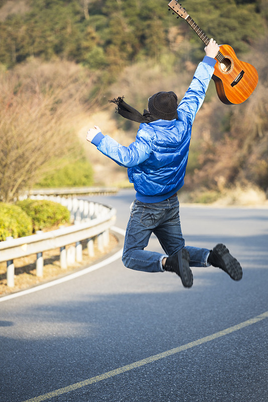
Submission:
M 177 18 L 182 17 L 197 33 L 200 39 L 209 44 L 209 38 L 201 28 L 190 17 L 187 11 L 175 1 L 168 3 L 172 14 L 177 14 Z M 238 105 L 244 102 L 258 82 L 258 73 L 249 63 L 237 59 L 234 50 L 229 45 L 220 45 L 220 51 L 215 57 L 215 71 L 212 79 L 215 82 L 217 94 L 226 105 Z

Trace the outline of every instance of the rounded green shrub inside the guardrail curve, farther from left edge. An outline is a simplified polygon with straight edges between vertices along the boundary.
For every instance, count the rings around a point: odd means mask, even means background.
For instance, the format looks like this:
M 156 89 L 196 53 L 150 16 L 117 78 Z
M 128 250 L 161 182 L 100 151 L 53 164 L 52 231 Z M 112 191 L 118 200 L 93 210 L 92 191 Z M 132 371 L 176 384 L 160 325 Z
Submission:
M 17 205 L 32 219 L 34 231 L 64 224 L 70 220 L 70 212 L 66 207 L 50 200 L 24 199 Z

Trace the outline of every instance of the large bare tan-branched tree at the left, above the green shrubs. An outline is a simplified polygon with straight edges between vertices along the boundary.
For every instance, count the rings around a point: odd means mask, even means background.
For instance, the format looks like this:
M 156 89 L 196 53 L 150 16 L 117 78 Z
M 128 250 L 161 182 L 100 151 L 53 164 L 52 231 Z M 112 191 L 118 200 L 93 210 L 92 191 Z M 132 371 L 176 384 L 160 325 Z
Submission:
M 0 199 L 11 202 L 74 150 L 91 77 L 74 63 L 36 61 L 0 75 Z

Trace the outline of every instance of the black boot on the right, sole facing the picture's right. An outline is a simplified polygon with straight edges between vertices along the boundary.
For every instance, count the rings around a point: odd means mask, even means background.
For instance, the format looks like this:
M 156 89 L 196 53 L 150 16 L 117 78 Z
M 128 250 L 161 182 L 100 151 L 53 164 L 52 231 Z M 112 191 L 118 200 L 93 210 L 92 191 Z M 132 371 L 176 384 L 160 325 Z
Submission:
M 217 244 L 210 251 L 208 263 L 227 272 L 233 280 L 240 280 L 243 272 L 241 265 L 229 252 L 224 244 Z

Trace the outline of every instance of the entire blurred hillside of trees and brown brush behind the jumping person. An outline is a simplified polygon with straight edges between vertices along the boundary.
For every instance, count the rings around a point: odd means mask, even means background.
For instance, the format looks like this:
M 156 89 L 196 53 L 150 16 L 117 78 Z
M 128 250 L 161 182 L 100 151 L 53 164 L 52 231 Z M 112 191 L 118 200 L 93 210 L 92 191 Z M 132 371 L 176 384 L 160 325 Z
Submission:
M 47 172 L 53 175 L 53 169 L 68 164 L 69 155 L 75 161 L 84 152 L 96 183 L 126 178 L 124 168 L 85 143 L 85 133 L 98 124 L 128 145 L 138 125 L 116 115 L 108 99 L 124 95 L 142 111 L 158 90 L 184 95 L 203 58 L 204 44 L 184 20 L 167 11 L 167 4 L 0 1 L 1 199 L 13 199 L 24 188 L 47 182 Z M 193 127 L 185 188 L 217 192 L 239 183 L 265 192 L 267 3 L 186 0 L 183 6 L 208 37 L 231 45 L 259 74 L 253 94 L 236 106 L 223 105 L 210 83 Z

